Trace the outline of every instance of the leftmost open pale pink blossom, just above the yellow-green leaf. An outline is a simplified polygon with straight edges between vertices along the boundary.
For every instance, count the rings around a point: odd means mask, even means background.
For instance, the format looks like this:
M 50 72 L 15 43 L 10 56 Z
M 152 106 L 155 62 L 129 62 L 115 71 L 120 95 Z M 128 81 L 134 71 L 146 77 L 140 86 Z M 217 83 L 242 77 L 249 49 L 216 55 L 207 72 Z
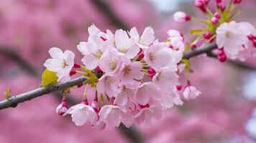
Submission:
M 69 72 L 74 65 L 75 54 L 72 51 L 53 47 L 49 50 L 52 59 L 47 59 L 44 66 L 49 71 L 57 72 L 58 82 L 65 82 L 69 79 Z

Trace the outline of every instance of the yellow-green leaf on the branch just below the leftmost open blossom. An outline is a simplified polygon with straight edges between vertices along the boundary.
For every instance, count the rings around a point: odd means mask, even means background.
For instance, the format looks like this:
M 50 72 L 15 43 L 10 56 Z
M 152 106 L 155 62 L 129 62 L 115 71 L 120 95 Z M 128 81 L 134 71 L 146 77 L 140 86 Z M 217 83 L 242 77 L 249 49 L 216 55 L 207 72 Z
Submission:
M 58 80 L 57 73 L 45 69 L 42 73 L 41 87 L 46 87 L 47 85 L 56 84 Z

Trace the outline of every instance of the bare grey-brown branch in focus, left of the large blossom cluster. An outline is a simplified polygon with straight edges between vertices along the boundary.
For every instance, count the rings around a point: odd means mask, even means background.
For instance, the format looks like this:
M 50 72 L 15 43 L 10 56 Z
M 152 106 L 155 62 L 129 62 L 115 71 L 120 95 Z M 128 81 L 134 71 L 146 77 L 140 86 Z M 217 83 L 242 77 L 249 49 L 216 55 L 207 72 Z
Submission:
M 44 94 L 49 94 L 51 92 L 56 92 L 56 91 L 60 91 L 63 89 L 67 89 L 68 87 L 73 87 L 78 84 L 82 84 L 85 81 L 86 81 L 85 77 L 80 77 L 78 79 L 72 79 L 68 82 L 53 84 L 53 85 L 47 86 L 47 87 L 40 87 L 40 88 L 32 90 L 30 92 L 26 92 L 23 94 L 19 94 L 17 96 L 9 97 L 8 99 L 5 99 L 4 101 L 0 102 L 0 109 L 5 109 L 8 107 L 17 107 L 17 104 L 19 104 L 21 102 L 26 102 L 30 99 L 40 97 Z

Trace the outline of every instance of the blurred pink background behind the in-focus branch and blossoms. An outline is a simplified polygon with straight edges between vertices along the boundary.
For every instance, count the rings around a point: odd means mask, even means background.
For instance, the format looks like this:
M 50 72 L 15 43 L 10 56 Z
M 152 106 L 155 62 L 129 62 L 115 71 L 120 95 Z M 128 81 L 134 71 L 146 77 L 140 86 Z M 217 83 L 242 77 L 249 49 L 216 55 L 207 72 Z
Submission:
M 242 1 L 243 13 L 237 21 L 255 24 L 255 6 L 255 0 Z M 193 0 L 1 0 L 0 99 L 6 88 L 15 95 L 40 86 L 42 64 L 52 46 L 74 51 L 76 62 L 80 62 L 82 55 L 76 45 L 86 41 L 92 23 L 102 31 L 137 26 L 142 32 L 152 26 L 160 40 L 167 38 L 168 29 L 186 34 L 191 26 L 197 26 L 175 23 L 175 11 L 202 16 Z M 256 71 L 204 56 L 191 61 L 195 71 L 191 82 L 203 94 L 166 111 L 150 126 L 134 127 L 145 142 L 256 142 Z M 255 59 L 248 59 L 247 64 L 253 66 Z M 82 92 L 78 89 L 70 94 L 79 98 Z M 70 117 L 55 114 L 59 103 L 52 94 L 1 110 L 0 143 L 131 142 L 114 127 L 101 132 L 87 125 L 76 127 Z

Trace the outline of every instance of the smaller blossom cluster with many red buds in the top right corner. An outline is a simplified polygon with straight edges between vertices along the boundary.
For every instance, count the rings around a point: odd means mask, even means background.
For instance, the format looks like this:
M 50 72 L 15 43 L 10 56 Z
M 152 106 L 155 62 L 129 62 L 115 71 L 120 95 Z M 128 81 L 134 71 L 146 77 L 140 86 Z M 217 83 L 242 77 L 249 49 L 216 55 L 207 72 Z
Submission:
M 216 0 L 216 10 L 213 12 L 209 9 L 209 0 L 195 0 L 196 7 L 207 19 L 191 17 L 182 11 L 176 12 L 173 17 L 179 23 L 192 20 L 206 25 L 204 29 L 191 29 L 191 35 L 196 35 L 196 38 L 188 43 L 188 47 L 196 48 L 202 41 L 216 41 L 219 61 L 226 61 L 227 57 L 245 61 L 251 56 L 256 56 L 256 30 L 255 26 L 248 22 L 234 21 L 234 17 L 241 12 L 237 10 L 240 3 L 241 0 L 232 0 L 229 3 Z

